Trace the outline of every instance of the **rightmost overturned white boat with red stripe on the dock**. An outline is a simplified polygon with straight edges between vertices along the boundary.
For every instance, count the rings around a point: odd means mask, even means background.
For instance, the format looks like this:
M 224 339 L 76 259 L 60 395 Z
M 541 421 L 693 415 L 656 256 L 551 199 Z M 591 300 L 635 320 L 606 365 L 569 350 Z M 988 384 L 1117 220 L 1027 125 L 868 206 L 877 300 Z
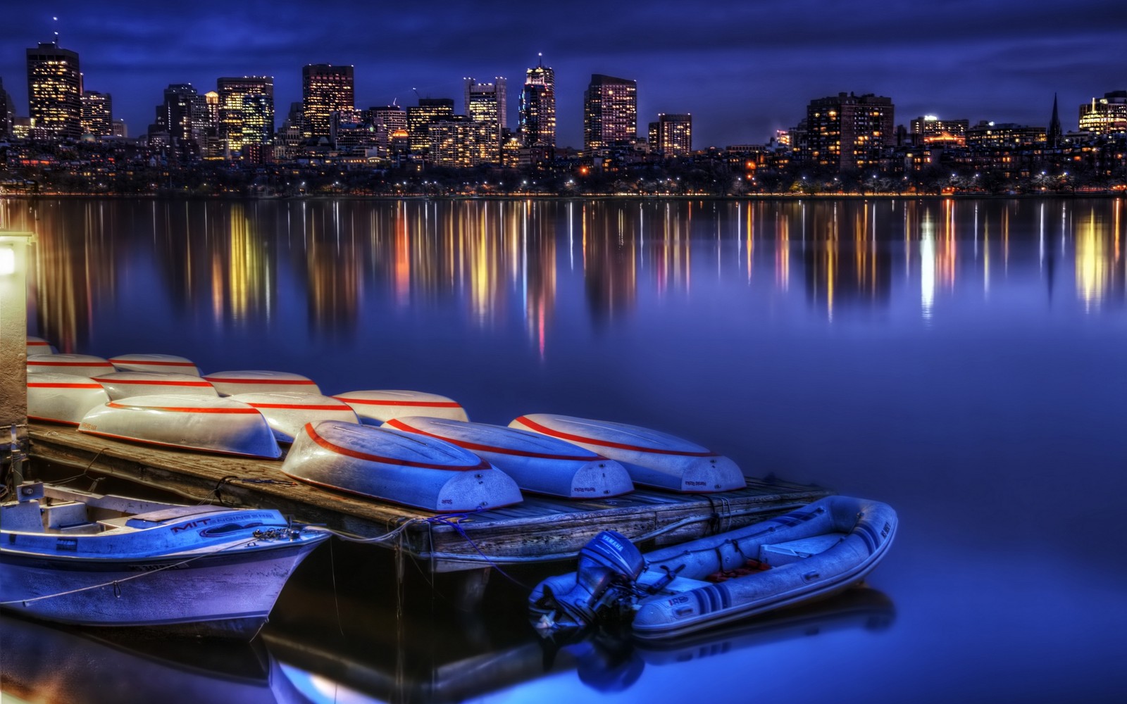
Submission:
M 521 416 L 508 426 L 616 460 L 636 484 L 683 493 L 729 491 L 747 485 L 743 472 L 728 457 L 659 430 L 552 413 Z

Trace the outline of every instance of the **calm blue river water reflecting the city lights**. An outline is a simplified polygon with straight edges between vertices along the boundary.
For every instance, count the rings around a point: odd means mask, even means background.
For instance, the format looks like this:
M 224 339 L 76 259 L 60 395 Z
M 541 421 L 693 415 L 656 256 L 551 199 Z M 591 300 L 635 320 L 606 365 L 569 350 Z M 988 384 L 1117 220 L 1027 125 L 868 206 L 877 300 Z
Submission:
M 6 617 L 5 692 L 1122 701 L 1125 220 L 1121 199 L 0 199 L 39 235 L 32 331 L 63 351 L 649 426 L 900 514 L 869 589 L 664 650 L 541 643 L 520 586 L 495 574 L 467 613 L 335 542 L 219 657 Z

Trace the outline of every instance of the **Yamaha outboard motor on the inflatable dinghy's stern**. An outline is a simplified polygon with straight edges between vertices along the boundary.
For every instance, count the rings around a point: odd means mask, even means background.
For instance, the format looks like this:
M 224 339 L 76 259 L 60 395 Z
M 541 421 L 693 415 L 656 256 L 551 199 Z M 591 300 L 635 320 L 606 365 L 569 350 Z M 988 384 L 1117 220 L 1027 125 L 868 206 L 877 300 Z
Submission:
M 543 614 L 541 626 L 580 627 L 594 623 L 607 607 L 621 607 L 625 601 L 629 608 L 633 582 L 645 567 L 641 552 L 624 535 L 603 531 L 579 551 L 575 585 L 566 594 L 566 582 L 543 582 L 543 594 L 534 603 L 534 609 Z M 559 594 L 553 592 L 553 582 Z

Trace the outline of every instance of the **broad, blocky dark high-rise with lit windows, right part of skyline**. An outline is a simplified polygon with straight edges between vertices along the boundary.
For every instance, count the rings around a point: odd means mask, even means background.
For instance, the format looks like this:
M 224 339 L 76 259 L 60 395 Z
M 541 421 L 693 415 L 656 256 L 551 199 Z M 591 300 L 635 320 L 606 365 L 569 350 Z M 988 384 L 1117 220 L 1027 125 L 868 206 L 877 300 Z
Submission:
M 841 92 L 810 100 L 806 108 L 806 161 L 838 169 L 877 166 L 881 151 L 893 146 L 891 98 Z

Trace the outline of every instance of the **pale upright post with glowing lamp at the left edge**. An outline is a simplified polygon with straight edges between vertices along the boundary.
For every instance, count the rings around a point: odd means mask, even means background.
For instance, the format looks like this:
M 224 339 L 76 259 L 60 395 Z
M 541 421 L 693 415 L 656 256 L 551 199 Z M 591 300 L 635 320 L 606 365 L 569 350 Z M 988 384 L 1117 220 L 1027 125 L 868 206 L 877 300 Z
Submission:
M 27 460 L 27 246 L 32 232 L 0 230 L 0 479 L 15 487 Z

